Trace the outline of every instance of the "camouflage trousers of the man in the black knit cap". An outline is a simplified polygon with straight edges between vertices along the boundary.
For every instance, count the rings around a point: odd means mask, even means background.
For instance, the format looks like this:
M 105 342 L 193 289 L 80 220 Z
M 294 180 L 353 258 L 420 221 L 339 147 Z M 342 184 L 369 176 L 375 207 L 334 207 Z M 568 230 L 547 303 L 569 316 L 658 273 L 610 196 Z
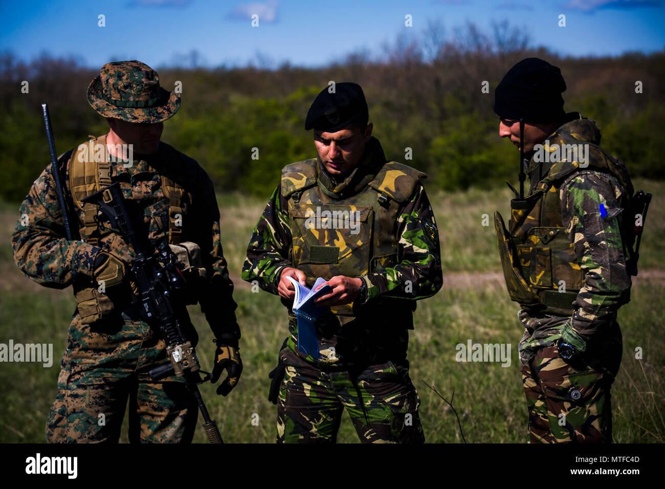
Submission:
M 556 345 L 540 349 L 521 368 L 531 442 L 611 442 L 610 387 L 620 359 L 619 351 L 618 362 L 614 355 L 611 364 L 591 366 L 564 361 Z

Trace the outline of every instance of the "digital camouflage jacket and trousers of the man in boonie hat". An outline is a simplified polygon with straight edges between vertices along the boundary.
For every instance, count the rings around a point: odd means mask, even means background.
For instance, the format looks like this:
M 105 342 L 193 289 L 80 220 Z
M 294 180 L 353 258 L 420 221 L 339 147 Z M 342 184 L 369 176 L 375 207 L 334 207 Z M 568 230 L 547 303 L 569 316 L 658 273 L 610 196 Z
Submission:
M 153 117 L 158 109 L 152 110 Z M 108 153 L 104 159 L 112 160 Z M 71 160 L 62 158 L 60 173 L 66 200 L 72 198 L 70 168 Z M 169 232 L 170 202 L 162 189 L 162 175 L 186 191 L 182 241 L 201 247 L 208 280 L 199 301 L 215 336 L 223 337 L 226 331 L 237 329 L 236 305 L 222 254 L 219 209 L 210 178 L 195 160 L 164 142 L 160 142 L 158 152 L 142 160 L 110 162 L 110 180 L 120 182 L 136 234 L 154 247 L 164 242 Z M 83 229 L 85 213 L 78 206 L 74 208 L 77 219 L 72 222 L 70 216 L 70 226 Z M 14 259 L 25 275 L 46 287 L 73 285 L 75 293 L 82 287 L 96 287 L 94 261 L 100 250 L 121 257 L 125 263 L 134 257 L 131 245 L 105 223 L 99 224 L 96 245 L 90 240 L 64 238 L 63 212 L 51 165 L 35 180 L 19 213 L 27 216 L 27 222 L 19 218 L 11 238 Z M 126 284 L 110 287 L 100 296 L 103 301 L 109 299 L 104 303 L 110 303 L 101 317 L 82 317 L 80 305 L 72 314 L 58 377 L 59 392 L 47 420 L 47 440 L 117 442 L 129 399 L 130 441 L 190 442 L 198 416 L 192 393 L 181 377 L 155 382 L 148 376 L 148 371 L 166 359 L 164 341 L 141 320 Z M 188 333 L 196 344 L 196 331 L 189 326 Z

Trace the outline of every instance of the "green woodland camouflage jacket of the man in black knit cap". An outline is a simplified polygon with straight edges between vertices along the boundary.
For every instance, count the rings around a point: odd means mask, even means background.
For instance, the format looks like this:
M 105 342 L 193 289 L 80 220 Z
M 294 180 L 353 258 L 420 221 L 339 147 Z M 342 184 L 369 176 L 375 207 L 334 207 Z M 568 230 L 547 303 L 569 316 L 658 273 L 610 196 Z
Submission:
M 573 246 L 572 267 L 579 268 L 581 274 L 579 283 L 566 284 L 567 291 L 572 289 L 577 293 L 573 297 L 572 315 L 535 314 L 527 309 L 519 312 L 519 318 L 527 328 L 520 347 L 523 361 L 536 349 L 553 344 L 562 334 L 581 351 L 589 341 L 620 339 L 616 311 L 630 300 L 631 286 L 621 225 L 622 219 L 633 219 L 633 216 L 624 216 L 626 212 L 623 212 L 632 184 L 622 163 L 618 162 L 615 167 L 621 168 L 622 172 L 614 174 L 609 170 L 607 156 L 597 146 L 600 136 L 595 121 L 581 118 L 564 124 L 547 138 L 550 151 L 555 144 L 591 143 L 586 168 L 570 170 L 565 162 L 536 162 L 535 155 L 529 162 L 531 189 L 527 199 L 547 179 L 553 182 L 547 194 L 553 194 L 549 200 L 547 197 L 543 200 L 540 216 L 532 212 L 533 216 L 529 214 L 527 221 L 533 218 L 533 222 L 523 226 L 561 226 L 567 242 Z M 624 181 L 620 182 L 620 178 Z M 549 206 L 549 201 L 558 201 L 559 205 Z M 563 268 L 563 264 L 561 266 Z M 549 287 L 553 289 L 552 295 L 563 295 L 557 291 L 561 283 L 555 280 L 556 273 L 552 258 L 553 275 L 548 278 L 551 281 Z M 537 285 L 542 279 L 539 275 L 531 283 Z

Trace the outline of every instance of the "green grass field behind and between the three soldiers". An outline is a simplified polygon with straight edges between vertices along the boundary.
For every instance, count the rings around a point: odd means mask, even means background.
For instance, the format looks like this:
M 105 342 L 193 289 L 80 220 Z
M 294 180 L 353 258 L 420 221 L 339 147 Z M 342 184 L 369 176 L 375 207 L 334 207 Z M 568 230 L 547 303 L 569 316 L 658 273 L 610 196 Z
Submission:
M 654 199 L 632 301 L 618 315 L 624 355 L 612 389 L 614 441 L 664 442 L 665 255 L 661 244 L 665 238 L 665 183 L 637 180 L 634 184 L 652 192 Z M 527 410 L 517 358 L 522 329 L 517 305 L 507 298 L 502 281 L 491 222 L 495 209 L 507 216 L 510 192 L 497 188 L 452 194 L 429 190 L 429 194 L 440 230 L 444 287 L 419 303 L 408 355 L 426 439 L 462 442 L 452 410 L 423 381 L 449 401 L 454 391 L 454 407 L 467 442 L 526 442 Z M 225 442 L 273 442 L 277 411 L 267 401 L 267 375 L 287 335 L 286 312 L 276 296 L 253 293 L 239 279 L 245 247 L 265 201 L 229 194 L 219 196 L 219 205 L 222 243 L 236 284 L 244 371 L 229 397 L 218 397 L 211 385 L 204 385 L 201 392 Z M 15 266 L 9 237 L 17 211 L 18 204 L 0 204 L 0 343 L 9 339 L 53 343 L 54 361 L 51 368 L 37 363 L 0 364 L 0 442 L 43 442 L 74 301 L 70 289 L 40 287 Z M 482 226 L 483 214 L 489 216 L 489 226 Z M 190 307 L 190 313 L 201 335 L 199 359 L 203 369 L 209 370 L 212 336 L 198 306 Z M 473 343 L 509 343 L 511 365 L 458 363 L 455 346 L 469 339 Z M 637 347 L 642 349 L 642 359 L 635 358 Z M 253 414 L 259 415 L 257 426 L 252 424 Z M 127 440 L 126 426 L 121 440 Z M 204 440 L 199 428 L 195 441 Z M 342 420 L 338 441 L 358 442 L 347 417 Z

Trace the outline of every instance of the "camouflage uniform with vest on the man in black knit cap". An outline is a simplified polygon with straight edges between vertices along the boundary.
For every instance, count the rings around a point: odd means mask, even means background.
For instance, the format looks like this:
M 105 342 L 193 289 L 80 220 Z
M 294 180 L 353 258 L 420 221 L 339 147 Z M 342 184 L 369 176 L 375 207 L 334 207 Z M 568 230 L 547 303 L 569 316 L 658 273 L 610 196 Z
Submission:
M 531 442 L 610 442 L 610 385 L 622 354 L 616 311 L 631 285 L 621 227 L 632 216 L 621 212 L 632 184 L 622 163 L 597 146 L 595 121 L 572 120 L 547 140 L 546 152 L 589 144 L 588 166 L 574 158 L 539 163 L 534 155 L 531 190 L 511 203 L 511 238 L 495 215 L 499 249 L 507 238 L 516 251 L 514 266 L 505 249 L 501 257 L 511 298 L 523 307 L 519 355 Z M 580 354 L 562 359 L 562 337 Z

